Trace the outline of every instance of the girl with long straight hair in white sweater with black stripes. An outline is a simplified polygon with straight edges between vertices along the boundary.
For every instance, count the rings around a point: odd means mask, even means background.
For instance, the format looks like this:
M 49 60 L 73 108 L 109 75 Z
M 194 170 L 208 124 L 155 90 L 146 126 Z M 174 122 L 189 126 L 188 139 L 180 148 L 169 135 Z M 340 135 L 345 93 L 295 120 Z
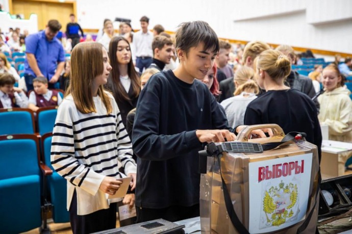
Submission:
M 52 165 L 67 179 L 67 209 L 73 233 L 116 227 L 116 204 L 108 199 L 136 163 L 131 140 L 114 97 L 103 85 L 111 70 L 108 53 L 99 43 L 84 42 L 71 54 L 71 80 L 55 122 Z M 134 198 L 132 199 L 134 200 Z

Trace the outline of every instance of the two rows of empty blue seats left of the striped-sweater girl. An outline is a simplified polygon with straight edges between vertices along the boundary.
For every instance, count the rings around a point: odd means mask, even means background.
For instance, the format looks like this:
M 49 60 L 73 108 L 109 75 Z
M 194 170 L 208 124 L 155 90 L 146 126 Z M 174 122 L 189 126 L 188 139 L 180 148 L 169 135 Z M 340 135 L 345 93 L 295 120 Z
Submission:
M 35 115 L 36 114 L 36 115 Z M 66 180 L 50 162 L 57 107 L 0 109 L 0 233 L 69 221 Z

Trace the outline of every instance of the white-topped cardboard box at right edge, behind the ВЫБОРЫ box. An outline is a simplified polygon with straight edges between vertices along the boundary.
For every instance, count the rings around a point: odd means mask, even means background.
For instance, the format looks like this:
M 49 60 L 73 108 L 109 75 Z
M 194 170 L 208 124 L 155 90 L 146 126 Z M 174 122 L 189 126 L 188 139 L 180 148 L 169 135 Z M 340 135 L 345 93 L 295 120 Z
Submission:
M 345 163 L 351 156 L 352 143 L 323 140 L 320 162 L 322 179 L 344 175 Z

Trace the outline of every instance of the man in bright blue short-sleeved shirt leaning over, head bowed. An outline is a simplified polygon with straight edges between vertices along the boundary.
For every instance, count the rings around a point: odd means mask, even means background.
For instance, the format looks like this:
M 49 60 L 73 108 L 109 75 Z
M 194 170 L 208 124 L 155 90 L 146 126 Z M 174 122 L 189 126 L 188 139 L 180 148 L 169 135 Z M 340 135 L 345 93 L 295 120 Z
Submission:
M 65 65 L 65 53 L 61 42 L 55 36 L 61 29 L 58 20 L 52 19 L 45 30 L 26 38 L 26 61 L 24 79 L 27 90 L 33 89 L 33 79 L 43 76 L 49 81 L 49 88 L 55 88 Z

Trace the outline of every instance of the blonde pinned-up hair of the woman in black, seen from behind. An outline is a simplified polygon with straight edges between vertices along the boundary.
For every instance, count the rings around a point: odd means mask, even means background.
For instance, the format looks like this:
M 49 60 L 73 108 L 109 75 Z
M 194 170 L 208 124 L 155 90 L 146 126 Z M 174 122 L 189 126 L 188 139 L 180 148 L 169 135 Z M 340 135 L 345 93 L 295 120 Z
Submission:
M 290 74 L 291 63 L 280 51 L 268 49 L 258 56 L 257 69 L 266 71 L 273 81 L 281 83 L 279 80 L 281 78 L 285 80 Z

